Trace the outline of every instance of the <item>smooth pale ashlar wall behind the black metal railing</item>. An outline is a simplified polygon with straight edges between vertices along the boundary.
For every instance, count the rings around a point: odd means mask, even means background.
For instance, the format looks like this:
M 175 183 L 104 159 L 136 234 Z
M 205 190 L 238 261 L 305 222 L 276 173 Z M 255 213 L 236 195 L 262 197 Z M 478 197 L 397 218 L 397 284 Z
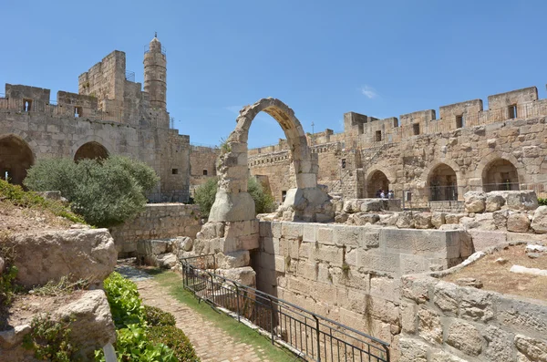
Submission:
M 260 290 L 391 343 L 397 354 L 402 274 L 447 269 L 470 255 L 462 231 L 260 222 Z

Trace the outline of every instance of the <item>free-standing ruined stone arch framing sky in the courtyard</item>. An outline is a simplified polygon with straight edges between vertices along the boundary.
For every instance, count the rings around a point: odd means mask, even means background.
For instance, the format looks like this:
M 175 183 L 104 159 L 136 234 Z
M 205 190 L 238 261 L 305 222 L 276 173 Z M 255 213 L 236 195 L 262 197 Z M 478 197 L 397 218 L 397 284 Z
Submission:
M 260 99 L 240 110 L 235 129 L 222 145 L 217 164 L 219 190 L 209 221 L 238 222 L 255 218 L 254 202 L 247 192 L 247 140 L 251 123 L 261 111 L 277 120 L 284 130 L 293 163 L 296 189 L 287 191 L 283 208 L 292 209 L 295 220 L 315 221 L 315 207 L 328 200 L 328 195 L 317 188 L 317 157 L 310 151 L 293 109 L 275 98 Z

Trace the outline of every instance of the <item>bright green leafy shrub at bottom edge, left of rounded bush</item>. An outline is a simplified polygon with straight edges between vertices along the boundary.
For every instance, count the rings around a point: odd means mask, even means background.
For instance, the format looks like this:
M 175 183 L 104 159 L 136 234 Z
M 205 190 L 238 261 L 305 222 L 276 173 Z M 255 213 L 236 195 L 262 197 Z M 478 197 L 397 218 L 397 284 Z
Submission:
M 129 325 L 116 331 L 116 355 L 120 362 L 178 362 L 169 346 L 154 343 L 146 329 Z M 102 350 L 95 351 L 96 361 L 105 361 Z

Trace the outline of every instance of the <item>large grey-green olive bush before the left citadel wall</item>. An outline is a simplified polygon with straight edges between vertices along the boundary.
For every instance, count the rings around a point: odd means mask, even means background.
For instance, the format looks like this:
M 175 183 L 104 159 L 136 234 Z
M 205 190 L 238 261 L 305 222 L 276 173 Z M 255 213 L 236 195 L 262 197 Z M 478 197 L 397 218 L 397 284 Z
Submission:
M 125 157 L 106 160 L 38 160 L 25 185 L 34 191 L 61 191 L 72 210 L 99 227 L 125 222 L 143 210 L 145 194 L 159 178 L 146 164 Z

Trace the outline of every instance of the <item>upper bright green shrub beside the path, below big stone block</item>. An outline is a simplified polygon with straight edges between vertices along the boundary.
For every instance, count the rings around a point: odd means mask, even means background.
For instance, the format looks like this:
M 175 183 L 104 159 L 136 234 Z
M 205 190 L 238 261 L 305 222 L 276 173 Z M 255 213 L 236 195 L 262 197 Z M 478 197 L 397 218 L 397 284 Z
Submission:
M 140 305 L 139 291 L 135 283 L 113 272 L 105 279 L 104 289 L 117 328 L 144 325 L 144 307 Z

